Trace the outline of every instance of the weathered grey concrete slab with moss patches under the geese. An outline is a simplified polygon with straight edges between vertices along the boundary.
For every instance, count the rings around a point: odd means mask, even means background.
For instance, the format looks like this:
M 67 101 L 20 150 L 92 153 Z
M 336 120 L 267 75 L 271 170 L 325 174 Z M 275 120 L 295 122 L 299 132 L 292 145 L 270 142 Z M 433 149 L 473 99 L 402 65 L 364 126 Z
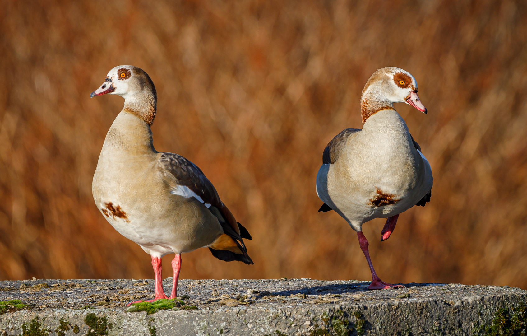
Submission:
M 23 334 L 25 323 L 26 335 L 472 335 L 483 334 L 499 309 L 512 318 L 527 305 L 527 291 L 518 288 L 411 283 L 368 291 L 367 284 L 182 280 L 179 297 L 198 309 L 147 315 L 125 305 L 153 297 L 152 280 L 3 281 L 0 301 L 32 308 L 0 315 L 0 334 Z

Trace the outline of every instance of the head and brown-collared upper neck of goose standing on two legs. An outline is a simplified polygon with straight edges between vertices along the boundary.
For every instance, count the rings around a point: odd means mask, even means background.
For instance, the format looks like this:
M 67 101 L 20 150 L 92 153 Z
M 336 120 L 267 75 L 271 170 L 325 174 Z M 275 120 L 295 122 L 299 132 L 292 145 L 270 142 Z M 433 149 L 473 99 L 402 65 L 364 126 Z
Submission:
M 149 125 L 152 125 L 157 105 L 157 93 L 150 76 L 133 65 L 115 66 L 106 75 L 99 89 L 90 94 L 117 94 L 124 98 L 123 111 L 136 114 Z

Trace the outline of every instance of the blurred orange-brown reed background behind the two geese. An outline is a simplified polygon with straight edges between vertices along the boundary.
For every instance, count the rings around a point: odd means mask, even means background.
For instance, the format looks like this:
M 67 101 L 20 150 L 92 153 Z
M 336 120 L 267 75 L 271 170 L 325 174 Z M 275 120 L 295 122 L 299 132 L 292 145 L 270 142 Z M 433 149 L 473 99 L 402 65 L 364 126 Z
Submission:
M 527 288 L 524 1 L 4 0 L 0 6 L 0 279 L 151 278 L 150 257 L 94 205 L 116 65 L 158 90 L 160 151 L 196 163 L 254 237 L 255 265 L 208 249 L 183 278 L 368 280 L 355 232 L 317 213 L 327 142 L 362 128 L 375 70 L 412 73 L 428 115 L 397 104 L 432 165 L 431 203 L 364 226 L 388 282 Z M 173 256 L 163 258 L 171 275 Z

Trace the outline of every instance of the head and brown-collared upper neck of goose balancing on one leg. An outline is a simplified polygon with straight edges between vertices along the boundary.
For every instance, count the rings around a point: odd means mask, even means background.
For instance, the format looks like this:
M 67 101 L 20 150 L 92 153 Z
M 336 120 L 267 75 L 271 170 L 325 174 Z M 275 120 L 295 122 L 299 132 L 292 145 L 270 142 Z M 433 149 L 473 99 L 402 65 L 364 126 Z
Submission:
M 427 113 L 417 95 L 417 81 L 409 72 L 388 66 L 375 71 L 364 85 L 360 108 L 363 121 L 377 111 L 393 109 L 393 103 L 406 103 Z

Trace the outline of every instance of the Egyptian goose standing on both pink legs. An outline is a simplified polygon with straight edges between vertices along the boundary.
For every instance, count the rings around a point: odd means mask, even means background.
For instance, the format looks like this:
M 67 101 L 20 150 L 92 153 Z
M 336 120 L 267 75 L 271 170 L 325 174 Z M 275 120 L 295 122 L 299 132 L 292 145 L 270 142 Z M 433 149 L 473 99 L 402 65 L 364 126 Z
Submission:
M 116 66 L 90 97 L 118 94 L 124 108 L 115 118 L 93 176 L 97 208 L 123 236 L 152 257 L 155 301 L 167 299 L 161 257 L 175 253 L 170 299 L 177 296 L 181 253 L 209 247 L 223 261 L 252 264 L 242 238 L 249 232 L 222 203 L 203 172 L 186 158 L 154 149 L 150 127 L 157 94 L 147 73 Z

